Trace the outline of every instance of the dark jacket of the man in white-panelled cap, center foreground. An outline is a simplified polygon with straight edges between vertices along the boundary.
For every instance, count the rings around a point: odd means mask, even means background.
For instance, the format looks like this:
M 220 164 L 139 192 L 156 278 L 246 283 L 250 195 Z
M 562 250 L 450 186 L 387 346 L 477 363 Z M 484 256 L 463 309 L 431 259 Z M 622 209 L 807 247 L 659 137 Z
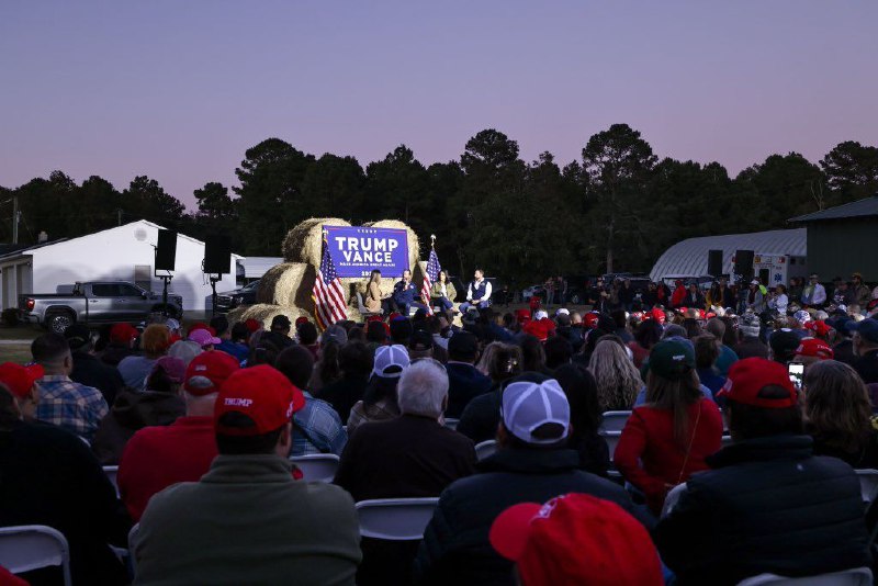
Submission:
M 494 552 L 487 536 L 494 519 L 519 503 L 545 503 L 567 493 L 585 493 L 640 515 L 624 488 L 576 470 L 578 463 L 573 450 L 531 448 L 502 449 L 480 462 L 481 473 L 454 482 L 440 495 L 415 561 L 416 582 L 515 584 L 513 563 Z

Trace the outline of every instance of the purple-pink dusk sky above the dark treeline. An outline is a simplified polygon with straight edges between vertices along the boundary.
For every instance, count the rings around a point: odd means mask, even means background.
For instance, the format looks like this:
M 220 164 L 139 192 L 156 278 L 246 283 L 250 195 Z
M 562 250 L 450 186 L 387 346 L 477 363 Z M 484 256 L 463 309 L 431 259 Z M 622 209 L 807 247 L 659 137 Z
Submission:
M 878 2 L 7 0 L 0 185 L 54 169 L 157 179 L 193 207 L 277 136 L 425 165 L 494 127 L 579 159 L 624 122 L 734 176 L 773 153 L 878 145 Z

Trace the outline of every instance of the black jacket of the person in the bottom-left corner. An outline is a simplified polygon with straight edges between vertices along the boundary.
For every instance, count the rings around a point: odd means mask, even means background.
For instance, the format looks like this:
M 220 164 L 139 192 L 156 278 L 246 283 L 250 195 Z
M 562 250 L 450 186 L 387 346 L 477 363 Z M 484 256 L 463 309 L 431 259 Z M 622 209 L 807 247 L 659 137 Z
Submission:
M 131 520 L 88 446 L 72 433 L 24 422 L 0 431 L 0 527 L 13 525 L 64 533 L 74 584 L 128 583 L 106 544 L 126 546 Z M 31 584 L 44 583 L 41 572 L 27 576 Z

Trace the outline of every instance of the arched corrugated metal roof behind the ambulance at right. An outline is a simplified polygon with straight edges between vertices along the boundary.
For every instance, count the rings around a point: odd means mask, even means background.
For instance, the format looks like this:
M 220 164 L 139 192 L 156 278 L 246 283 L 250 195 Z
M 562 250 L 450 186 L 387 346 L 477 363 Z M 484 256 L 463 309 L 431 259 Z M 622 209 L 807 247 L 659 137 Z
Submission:
M 754 232 L 689 238 L 675 244 L 658 257 L 650 271 L 650 278 L 661 279 L 668 274 L 698 277 L 708 274 L 708 250 L 722 250 L 722 272 L 732 273 L 732 257 L 736 250 L 753 250 L 763 255 L 807 255 L 808 229 Z

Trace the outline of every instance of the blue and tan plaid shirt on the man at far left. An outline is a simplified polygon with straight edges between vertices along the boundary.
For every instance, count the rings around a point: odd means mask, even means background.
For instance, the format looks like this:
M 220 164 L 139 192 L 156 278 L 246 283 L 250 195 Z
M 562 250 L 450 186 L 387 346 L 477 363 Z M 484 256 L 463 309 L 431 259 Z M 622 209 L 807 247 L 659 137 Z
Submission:
M 40 387 L 36 418 L 88 440 L 91 440 L 101 419 L 110 412 L 100 391 L 75 383 L 64 374 L 47 374 L 36 384 Z

